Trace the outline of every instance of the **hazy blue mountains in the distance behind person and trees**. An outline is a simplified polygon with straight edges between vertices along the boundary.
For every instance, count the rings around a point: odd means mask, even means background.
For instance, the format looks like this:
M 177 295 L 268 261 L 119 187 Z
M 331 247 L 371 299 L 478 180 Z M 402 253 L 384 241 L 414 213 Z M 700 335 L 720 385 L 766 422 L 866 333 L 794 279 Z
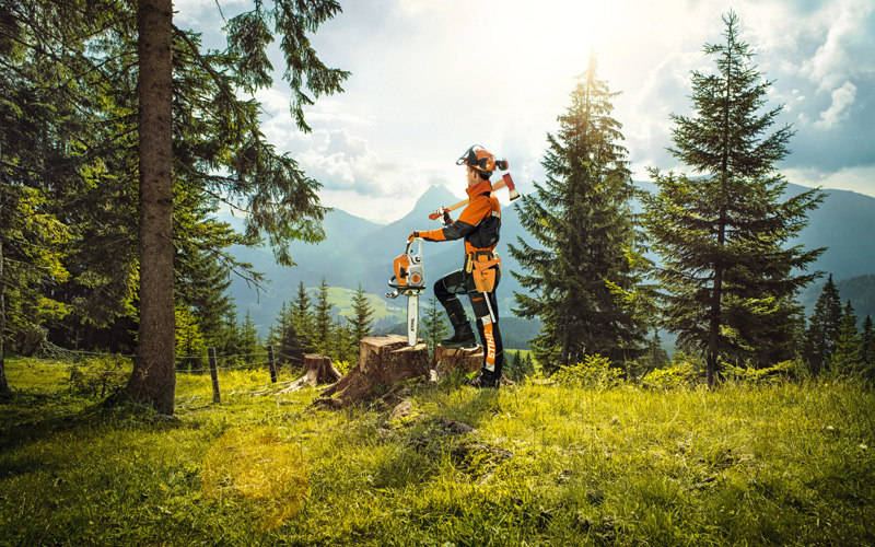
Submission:
M 650 183 L 635 184 L 649 191 L 654 190 Z M 794 196 L 807 189 L 791 184 L 788 195 Z M 875 283 L 875 237 L 872 236 L 875 234 L 875 198 L 847 190 L 825 191 L 829 196 L 809 214 L 808 226 L 793 244 L 801 244 L 806 248 L 828 247 L 814 265 L 814 269 L 832 274 L 842 301 L 851 299 L 861 318 L 866 313 L 875 316 L 872 292 L 867 292 L 875 289 L 861 289 L 872 288 Z M 385 328 L 393 322 L 402 321 L 402 303 L 384 298 L 384 293 L 389 290 L 386 282 L 392 277 L 392 260 L 404 252 L 410 232 L 440 226 L 439 222 L 429 220 L 431 211 L 458 200 L 448 189 L 432 186 L 419 198 L 410 212 L 387 225 L 336 209 L 323 222 L 326 233 L 324 242 L 318 245 L 296 242 L 292 245 L 292 257 L 298 264 L 292 268 L 277 265 L 270 248 L 234 247 L 234 256 L 252 263 L 256 270 L 265 272 L 270 280 L 266 291 L 259 293 L 244 280 L 233 280 L 231 291 L 238 316 L 243 317 L 248 310 L 259 334 L 264 336 L 276 321 L 282 303 L 294 298 L 299 282 L 303 281 L 305 287 L 314 288 L 325 279 L 331 287 L 348 289 L 347 294 L 350 295 L 361 283 L 365 292 L 381 299 L 383 305 L 374 300 L 380 307 L 378 327 Z M 510 256 L 506 245 L 516 243 L 517 237 L 527 241 L 530 238 L 520 225 L 517 214 L 513 206 L 505 205 L 502 209 L 502 241 L 498 251 L 503 260 L 504 277 L 499 288 L 499 307 L 504 317 L 512 316 L 513 293 L 522 290 L 510 275 L 510 271 L 520 271 L 520 266 Z M 235 225 L 241 222 L 238 218 L 230 216 L 221 217 L 221 220 Z M 458 269 L 462 260 L 463 249 L 459 242 L 423 243 L 423 261 L 429 284 Z M 868 282 L 866 276 L 872 276 L 872 282 Z M 844 281 L 859 277 L 863 280 Z M 801 302 L 809 309 L 813 307 L 825 280 L 826 278 L 804 291 L 800 296 Z M 429 289 L 422 296 L 422 302 L 427 303 L 432 296 Z M 336 306 L 340 310 L 343 307 L 342 302 L 338 301 Z M 537 328 L 534 331 L 537 333 Z

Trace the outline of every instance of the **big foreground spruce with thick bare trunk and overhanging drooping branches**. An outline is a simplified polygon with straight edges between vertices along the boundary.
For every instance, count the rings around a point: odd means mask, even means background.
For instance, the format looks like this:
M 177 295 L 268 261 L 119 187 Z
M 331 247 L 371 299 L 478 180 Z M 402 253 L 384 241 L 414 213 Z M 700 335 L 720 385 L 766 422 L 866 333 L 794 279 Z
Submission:
M 42 136 L 38 142 L 7 140 L 4 131 L 2 141 L 20 142 L 34 156 L 63 160 L 52 162 L 52 176 L 39 181 L 58 198 L 56 214 L 80 231 L 71 253 L 77 264 L 68 268 L 72 287 L 54 292 L 75 304 L 84 321 L 105 324 L 120 314 L 130 321 L 139 316 L 130 397 L 173 411 L 174 242 L 168 226 L 178 208 L 172 190 L 187 185 L 245 209 L 246 235 L 266 236 L 283 264 L 292 263 L 293 240 L 322 238 L 319 185 L 266 142 L 257 101 L 240 98 L 237 92 L 254 94 L 272 84 L 266 49 L 275 35 L 281 36 L 291 115 L 308 131 L 303 108 L 314 97 L 342 91 L 349 75 L 326 67 L 311 43 L 311 35 L 339 11 L 335 0 L 257 2 L 229 21 L 229 47 L 218 53 L 202 51 L 196 34 L 173 25 L 170 0 L 0 4 L 0 109 L 11 105 L 26 120 L 14 127 L 30 125 L 36 128 L 31 136 Z M 7 78 L 5 69 L 15 75 Z M 152 85 L 155 78 L 163 83 Z M 52 96 L 30 101 L 27 90 Z M 26 105 L 61 116 L 52 114 L 44 123 L 21 108 Z M 72 116 L 62 119 L 67 113 Z M 58 151 L 71 152 L 67 155 L 75 161 Z

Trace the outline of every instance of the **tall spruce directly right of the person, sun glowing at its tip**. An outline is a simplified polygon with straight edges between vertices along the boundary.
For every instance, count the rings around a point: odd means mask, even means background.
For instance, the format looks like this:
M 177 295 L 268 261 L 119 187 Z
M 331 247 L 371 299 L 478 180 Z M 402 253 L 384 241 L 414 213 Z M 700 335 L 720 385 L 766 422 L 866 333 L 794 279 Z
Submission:
M 515 294 L 514 312 L 544 322 L 530 347 L 547 370 L 592 353 L 631 359 L 643 341 L 640 323 L 610 289 L 633 283 L 627 256 L 635 243 L 633 188 L 622 126 L 610 117 L 617 93 L 596 70 L 593 54 L 559 131 L 547 136 L 547 179 L 516 206 L 536 244 L 517 238 L 509 246 L 525 270 L 512 274 L 529 291 Z

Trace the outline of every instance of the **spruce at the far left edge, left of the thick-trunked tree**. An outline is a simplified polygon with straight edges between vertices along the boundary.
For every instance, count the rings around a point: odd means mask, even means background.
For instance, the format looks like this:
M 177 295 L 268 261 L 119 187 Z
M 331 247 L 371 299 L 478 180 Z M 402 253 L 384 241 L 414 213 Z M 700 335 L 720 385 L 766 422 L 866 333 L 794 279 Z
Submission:
M 0 3 L 0 393 L 9 391 L 3 342 L 43 333 L 43 321 L 70 307 L 56 291 L 70 277 L 72 234 L 51 185 L 78 175 L 95 132 L 82 114 L 89 78 L 72 37 L 94 20 L 71 21 L 59 4 Z

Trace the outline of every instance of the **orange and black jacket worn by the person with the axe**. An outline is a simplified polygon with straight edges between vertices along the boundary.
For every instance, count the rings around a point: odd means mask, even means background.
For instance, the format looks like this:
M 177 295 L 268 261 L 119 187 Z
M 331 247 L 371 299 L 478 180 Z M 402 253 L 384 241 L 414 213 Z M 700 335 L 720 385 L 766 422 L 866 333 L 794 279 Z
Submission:
M 453 241 L 465 238 L 465 255 L 472 252 L 492 252 L 499 243 L 501 230 L 501 206 L 492 195 L 492 183 L 482 181 L 466 189 L 468 206 L 462 210 L 458 220 L 440 230 L 419 232 L 425 241 Z

